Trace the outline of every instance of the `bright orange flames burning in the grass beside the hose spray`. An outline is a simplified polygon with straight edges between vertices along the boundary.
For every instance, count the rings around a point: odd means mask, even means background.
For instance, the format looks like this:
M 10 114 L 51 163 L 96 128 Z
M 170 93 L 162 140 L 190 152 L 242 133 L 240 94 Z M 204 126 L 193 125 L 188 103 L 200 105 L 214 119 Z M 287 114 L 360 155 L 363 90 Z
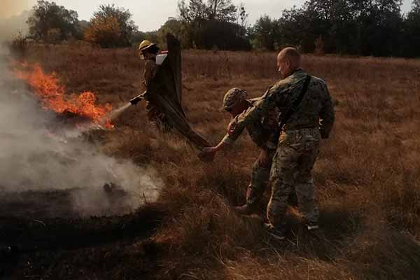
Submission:
M 93 92 L 80 94 L 65 94 L 65 87 L 59 85 L 56 73 L 48 75 L 41 66 L 27 63 L 20 64 L 20 69 L 15 70 L 15 75 L 25 80 L 34 90 L 34 94 L 40 99 L 43 109 L 49 109 L 57 113 L 73 113 L 88 118 L 97 125 L 105 128 L 113 128 L 111 120 L 107 117 L 111 112 L 111 104 L 95 105 L 97 97 Z

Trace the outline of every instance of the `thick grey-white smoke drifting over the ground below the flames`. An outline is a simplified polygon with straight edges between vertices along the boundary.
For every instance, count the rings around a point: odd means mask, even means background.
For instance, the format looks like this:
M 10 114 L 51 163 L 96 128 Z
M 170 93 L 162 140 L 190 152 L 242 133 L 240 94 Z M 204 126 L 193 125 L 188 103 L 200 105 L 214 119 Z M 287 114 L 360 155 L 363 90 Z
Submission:
M 123 214 L 157 199 L 162 181 L 153 169 L 104 155 L 80 134 L 51 134 L 55 122 L 0 50 L 0 193 L 65 190 L 81 216 Z

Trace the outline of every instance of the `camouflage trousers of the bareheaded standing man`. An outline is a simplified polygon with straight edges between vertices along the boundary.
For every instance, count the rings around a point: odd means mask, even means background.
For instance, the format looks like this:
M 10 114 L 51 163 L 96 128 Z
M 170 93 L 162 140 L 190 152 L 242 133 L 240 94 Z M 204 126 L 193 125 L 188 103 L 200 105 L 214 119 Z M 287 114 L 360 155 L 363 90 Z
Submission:
M 274 228 L 283 225 L 288 196 L 293 191 L 296 192 L 303 218 L 318 221 L 312 169 L 318 156 L 320 140 L 318 128 L 289 130 L 281 134 L 269 179 L 272 195 L 267 206 L 267 218 Z

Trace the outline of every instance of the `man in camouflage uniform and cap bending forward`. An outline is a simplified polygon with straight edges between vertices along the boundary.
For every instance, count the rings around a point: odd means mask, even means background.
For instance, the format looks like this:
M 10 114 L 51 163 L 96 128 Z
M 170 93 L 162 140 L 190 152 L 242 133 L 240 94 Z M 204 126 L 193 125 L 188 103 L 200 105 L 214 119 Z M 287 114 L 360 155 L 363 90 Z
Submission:
M 251 183 L 246 191 L 246 204 L 235 207 L 239 214 L 252 214 L 264 194 L 265 187 L 269 179 L 269 171 L 272 165 L 272 158 L 275 153 L 274 144 L 267 141 L 272 139 L 279 120 L 278 111 L 269 113 L 265 118 L 261 118 L 253 123 L 246 123 L 241 129 L 235 130 L 237 123 L 242 121 L 247 111 L 253 109 L 255 104 L 260 102 L 260 98 L 246 99 L 246 91 L 237 87 L 229 90 L 223 98 L 223 109 L 232 115 L 232 121 L 228 126 L 228 132 L 221 142 L 211 148 L 205 148 L 202 157 L 213 158 L 218 151 L 228 148 L 241 135 L 244 128 L 248 131 L 253 142 L 260 148 L 260 155 L 252 167 Z M 271 147 L 271 148 L 269 148 Z

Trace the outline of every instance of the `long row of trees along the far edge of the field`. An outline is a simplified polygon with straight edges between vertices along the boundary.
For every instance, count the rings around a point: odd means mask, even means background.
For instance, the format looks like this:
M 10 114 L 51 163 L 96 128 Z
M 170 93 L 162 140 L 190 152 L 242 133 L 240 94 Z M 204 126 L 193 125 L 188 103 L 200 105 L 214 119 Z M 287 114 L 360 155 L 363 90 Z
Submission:
M 343 55 L 420 56 L 420 0 L 402 14 L 401 0 L 307 0 L 283 10 L 279 18 L 262 15 L 250 25 L 244 4 L 232 0 L 180 0 L 176 18 L 156 31 L 142 32 L 130 10 L 102 5 L 89 22 L 55 2 L 38 0 L 29 18 L 29 37 L 49 43 L 69 38 L 103 48 L 127 47 L 147 38 L 160 44 L 171 32 L 183 48 L 279 50 Z

